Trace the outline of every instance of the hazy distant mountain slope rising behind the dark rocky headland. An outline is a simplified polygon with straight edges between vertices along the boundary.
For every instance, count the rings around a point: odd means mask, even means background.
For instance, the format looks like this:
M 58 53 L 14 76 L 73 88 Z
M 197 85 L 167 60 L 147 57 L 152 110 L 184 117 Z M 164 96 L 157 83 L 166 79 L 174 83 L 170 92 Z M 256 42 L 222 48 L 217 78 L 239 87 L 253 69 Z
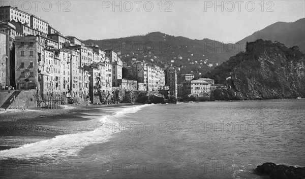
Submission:
M 243 42 L 242 50 L 246 48 L 246 42 L 253 42 L 257 39 L 278 41 L 287 47 L 298 46 L 300 51 L 305 53 L 305 18 L 295 22 L 277 22 L 253 33 L 239 41 Z

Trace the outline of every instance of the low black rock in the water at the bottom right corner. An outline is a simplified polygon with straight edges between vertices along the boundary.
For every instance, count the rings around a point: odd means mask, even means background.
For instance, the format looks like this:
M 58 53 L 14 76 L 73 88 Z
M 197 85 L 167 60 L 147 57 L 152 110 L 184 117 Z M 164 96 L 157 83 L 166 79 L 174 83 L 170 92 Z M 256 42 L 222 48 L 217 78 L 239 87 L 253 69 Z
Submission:
M 270 179 L 303 179 L 305 178 L 305 167 L 293 167 L 276 165 L 275 163 L 263 163 L 255 169 L 257 173 L 269 175 Z

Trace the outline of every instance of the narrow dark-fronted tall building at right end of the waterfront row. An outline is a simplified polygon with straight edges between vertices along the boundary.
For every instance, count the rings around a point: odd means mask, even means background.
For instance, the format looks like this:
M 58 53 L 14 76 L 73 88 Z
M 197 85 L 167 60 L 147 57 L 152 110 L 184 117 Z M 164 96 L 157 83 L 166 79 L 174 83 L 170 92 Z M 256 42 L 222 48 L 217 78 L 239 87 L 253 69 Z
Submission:
M 165 85 L 169 86 L 170 95 L 177 97 L 177 72 L 175 68 L 167 68 L 165 71 Z

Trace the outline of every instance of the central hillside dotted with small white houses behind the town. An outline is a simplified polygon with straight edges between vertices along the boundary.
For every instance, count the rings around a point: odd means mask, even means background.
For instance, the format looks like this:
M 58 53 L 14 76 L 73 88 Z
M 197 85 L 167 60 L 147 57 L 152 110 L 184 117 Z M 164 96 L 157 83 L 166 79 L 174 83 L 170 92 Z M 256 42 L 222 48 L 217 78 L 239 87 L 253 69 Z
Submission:
M 228 60 L 237 53 L 237 49 L 228 52 L 226 44 L 209 39 L 192 40 L 185 37 L 174 37 L 161 32 L 151 32 L 146 35 L 134 37 L 87 40 L 103 49 L 113 49 L 120 52 L 123 61 L 131 63 L 132 58 L 145 60 L 164 67 L 166 63 L 180 67 L 180 74 L 193 73 L 199 76 L 204 74 L 217 64 Z M 216 48 L 216 46 L 220 46 Z M 221 48 L 222 47 L 222 48 Z M 209 65 L 209 66 L 208 66 Z

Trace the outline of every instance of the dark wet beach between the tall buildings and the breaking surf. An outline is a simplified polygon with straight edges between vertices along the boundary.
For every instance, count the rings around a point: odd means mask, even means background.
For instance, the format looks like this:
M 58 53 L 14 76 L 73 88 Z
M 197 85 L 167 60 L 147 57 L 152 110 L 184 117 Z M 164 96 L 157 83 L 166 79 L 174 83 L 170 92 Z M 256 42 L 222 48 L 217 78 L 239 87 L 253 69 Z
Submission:
M 38 108 L 26 110 L 0 111 L 0 150 L 20 147 L 26 141 L 12 142 L 14 137 L 43 139 L 53 138 L 56 135 L 72 134 L 83 131 L 92 131 L 99 127 L 94 117 L 101 118 L 119 111 L 123 106 L 140 105 L 140 103 L 120 103 L 108 105 L 66 105 L 62 110 L 41 110 Z M 93 112 L 99 115 L 94 115 Z M 90 115 L 90 114 L 93 114 Z

